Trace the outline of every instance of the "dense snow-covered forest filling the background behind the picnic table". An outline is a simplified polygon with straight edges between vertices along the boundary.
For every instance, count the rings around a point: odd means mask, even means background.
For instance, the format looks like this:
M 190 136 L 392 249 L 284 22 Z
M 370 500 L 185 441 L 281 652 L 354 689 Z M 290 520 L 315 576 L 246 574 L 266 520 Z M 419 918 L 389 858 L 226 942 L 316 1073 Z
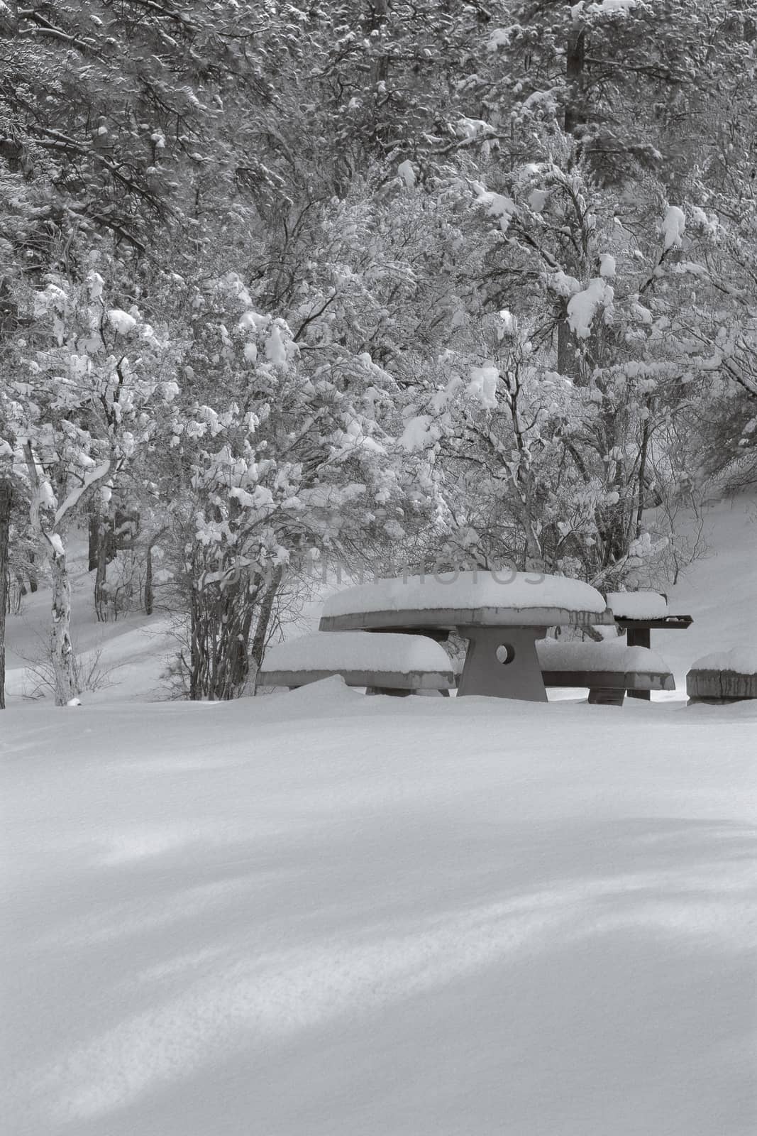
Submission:
M 98 618 L 170 613 L 176 687 L 229 699 L 316 566 L 662 587 L 754 482 L 754 3 L 0 33 L 0 618 L 52 588 L 59 703 L 76 534 Z

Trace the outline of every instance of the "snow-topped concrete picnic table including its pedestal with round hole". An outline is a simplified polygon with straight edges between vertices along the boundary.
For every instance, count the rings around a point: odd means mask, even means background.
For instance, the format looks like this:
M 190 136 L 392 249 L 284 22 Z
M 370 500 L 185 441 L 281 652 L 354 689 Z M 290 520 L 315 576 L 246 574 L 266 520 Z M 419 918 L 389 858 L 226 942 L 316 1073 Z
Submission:
M 361 584 L 330 596 L 322 632 L 399 632 L 468 640 L 459 695 L 546 702 L 536 641 L 548 627 L 613 624 L 590 584 L 535 573 L 453 571 Z

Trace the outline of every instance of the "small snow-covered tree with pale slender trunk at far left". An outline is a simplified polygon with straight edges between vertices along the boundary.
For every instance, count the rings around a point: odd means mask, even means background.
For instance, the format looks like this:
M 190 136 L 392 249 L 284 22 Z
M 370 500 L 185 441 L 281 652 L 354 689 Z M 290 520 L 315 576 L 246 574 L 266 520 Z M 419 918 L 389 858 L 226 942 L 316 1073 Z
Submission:
M 27 486 L 30 524 L 52 584 L 50 653 L 56 702 L 75 698 L 66 536 L 96 492 L 108 498 L 178 393 L 174 352 L 138 308 L 111 306 L 93 268 L 83 284 L 61 276 L 28 298 L 28 339 L 17 342 L 6 384 L 3 443 Z M 3 444 L 0 443 L 0 444 Z

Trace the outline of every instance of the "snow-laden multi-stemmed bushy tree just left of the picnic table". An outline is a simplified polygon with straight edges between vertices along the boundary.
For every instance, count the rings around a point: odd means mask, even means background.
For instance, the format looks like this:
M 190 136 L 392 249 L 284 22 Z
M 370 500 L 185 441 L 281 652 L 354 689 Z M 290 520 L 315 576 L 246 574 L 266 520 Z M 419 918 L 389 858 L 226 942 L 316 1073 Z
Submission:
M 368 354 L 317 364 L 236 274 L 193 307 L 193 399 L 171 440 L 185 471 L 170 512 L 190 615 L 180 666 L 191 698 L 228 699 L 261 661 L 285 568 L 389 540 L 405 501 L 380 421 L 388 376 Z

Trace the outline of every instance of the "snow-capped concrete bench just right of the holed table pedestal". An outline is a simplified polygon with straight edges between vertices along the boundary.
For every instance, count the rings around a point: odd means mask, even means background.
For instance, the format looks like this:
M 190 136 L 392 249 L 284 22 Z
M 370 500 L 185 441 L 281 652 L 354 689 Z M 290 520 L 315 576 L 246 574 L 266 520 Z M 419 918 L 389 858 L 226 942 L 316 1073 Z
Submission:
M 537 643 L 545 686 L 588 686 L 589 702 L 622 705 L 629 691 L 674 691 L 671 669 L 646 646 L 603 643 Z

